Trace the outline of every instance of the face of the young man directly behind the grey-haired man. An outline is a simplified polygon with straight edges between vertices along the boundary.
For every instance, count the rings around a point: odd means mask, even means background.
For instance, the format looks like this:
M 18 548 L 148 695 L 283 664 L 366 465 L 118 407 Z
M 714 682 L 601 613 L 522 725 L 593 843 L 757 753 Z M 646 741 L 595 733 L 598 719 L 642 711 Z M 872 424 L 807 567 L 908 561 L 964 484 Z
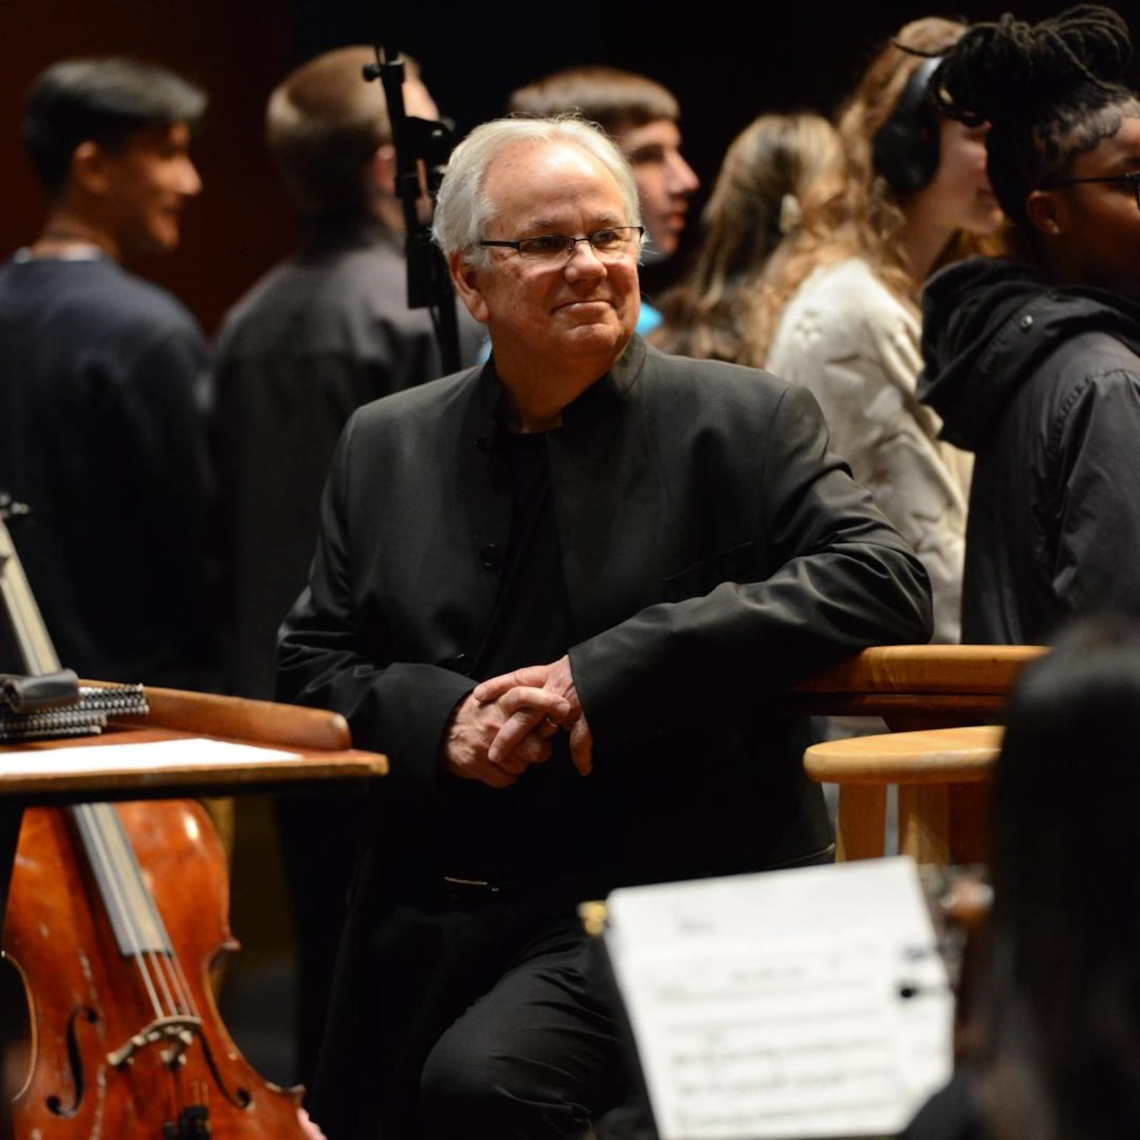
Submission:
M 618 131 L 616 138 L 634 169 L 650 252 L 671 256 L 685 228 L 689 198 L 700 186 L 681 154 L 681 131 L 671 119 L 658 119 Z

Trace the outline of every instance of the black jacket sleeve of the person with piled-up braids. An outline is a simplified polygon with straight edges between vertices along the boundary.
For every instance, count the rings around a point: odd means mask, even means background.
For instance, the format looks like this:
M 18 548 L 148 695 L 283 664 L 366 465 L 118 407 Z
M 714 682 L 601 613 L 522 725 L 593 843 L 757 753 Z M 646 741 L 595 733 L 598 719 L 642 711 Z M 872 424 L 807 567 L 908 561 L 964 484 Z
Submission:
M 1043 560 L 1059 608 L 1053 625 L 1106 600 L 1140 612 L 1140 372 L 1093 377 L 1062 412 L 1049 464 L 1057 482 L 1041 497 L 1054 514 L 1043 530 L 1057 535 Z

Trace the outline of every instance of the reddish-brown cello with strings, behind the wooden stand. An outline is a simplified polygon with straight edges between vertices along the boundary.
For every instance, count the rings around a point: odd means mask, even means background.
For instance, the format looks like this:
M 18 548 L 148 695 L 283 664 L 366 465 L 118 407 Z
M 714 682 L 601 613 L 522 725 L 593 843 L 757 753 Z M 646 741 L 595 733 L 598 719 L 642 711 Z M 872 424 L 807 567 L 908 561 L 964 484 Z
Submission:
M 59 676 L 2 514 L 0 589 L 28 676 Z M 303 1090 L 263 1080 L 218 1012 L 210 970 L 238 948 L 228 903 L 221 841 L 195 801 L 25 811 L 2 936 L 23 1026 L 2 1056 L 0 1135 L 311 1134 Z

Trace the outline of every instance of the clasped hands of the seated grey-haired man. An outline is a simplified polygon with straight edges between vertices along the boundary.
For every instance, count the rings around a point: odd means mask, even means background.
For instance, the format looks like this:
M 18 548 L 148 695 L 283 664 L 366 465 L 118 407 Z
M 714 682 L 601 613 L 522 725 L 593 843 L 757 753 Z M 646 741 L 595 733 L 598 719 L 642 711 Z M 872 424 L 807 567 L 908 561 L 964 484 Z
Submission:
M 513 784 L 531 764 L 545 764 L 551 738 L 570 734 L 570 758 L 581 775 L 593 769 L 594 738 L 578 700 L 570 659 L 532 665 L 481 682 L 456 708 L 443 766 L 491 788 Z

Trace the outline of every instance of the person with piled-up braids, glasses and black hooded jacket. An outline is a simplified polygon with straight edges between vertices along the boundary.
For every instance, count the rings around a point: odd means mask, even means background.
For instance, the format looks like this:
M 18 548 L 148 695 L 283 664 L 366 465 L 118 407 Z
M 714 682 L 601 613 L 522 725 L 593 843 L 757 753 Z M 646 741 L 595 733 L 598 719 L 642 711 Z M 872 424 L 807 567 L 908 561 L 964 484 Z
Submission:
M 962 636 L 1041 643 L 1076 614 L 1140 610 L 1140 98 L 1131 38 L 1080 5 L 978 24 L 934 78 L 985 121 L 1012 252 L 928 284 L 920 397 L 975 454 Z

